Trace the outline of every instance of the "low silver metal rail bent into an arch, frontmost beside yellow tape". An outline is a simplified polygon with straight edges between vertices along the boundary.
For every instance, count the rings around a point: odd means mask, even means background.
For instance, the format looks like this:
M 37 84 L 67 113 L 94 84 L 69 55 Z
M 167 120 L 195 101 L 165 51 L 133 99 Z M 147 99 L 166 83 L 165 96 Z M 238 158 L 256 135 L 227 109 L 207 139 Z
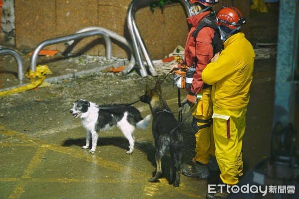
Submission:
M 32 53 L 30 70 L 35 71 L 38 53 L 45 46 L 63 43 L 63 42 L 76 40 L 76 39 L 82 39 L 82 38 L 91 37 L 91 36 L 95 36 L 95 35 L 101 35 L 105 39 L 106 58 L 111 59 L 112 58 L 112 47 L 111 47 L 111 39 L 110 39 L 109 35 L 106 32 L 104 32 L 103 30 L 92 30 L 92 31 L 86 31 L 86 32 L 82 32 L 82 33 L 77 33 L 77 34 L 67 35 L 67 36 L 63 36 L 63 37 L 57 37 L 57 38 L 53 38 L 53 39 L 44 40 L 43 42 L 41 42 L 40 44 L 37 45 L 37 47 L 34 49 L 34 51 Z

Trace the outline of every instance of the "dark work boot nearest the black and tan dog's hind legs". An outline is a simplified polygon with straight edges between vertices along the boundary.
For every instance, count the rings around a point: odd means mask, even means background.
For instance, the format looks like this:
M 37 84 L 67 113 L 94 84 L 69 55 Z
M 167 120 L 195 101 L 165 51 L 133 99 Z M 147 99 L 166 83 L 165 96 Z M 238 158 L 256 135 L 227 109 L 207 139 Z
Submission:
M 185 176 L 189 177 L 196 177 L 196 178 L 209 178 L 210 177 L 210 171 L 208 169 L 208 166 L 206 164 L 201 164 L 199 162 L 194 162 L 192 165 L 183 164 L 182 166 L 182 172 Z

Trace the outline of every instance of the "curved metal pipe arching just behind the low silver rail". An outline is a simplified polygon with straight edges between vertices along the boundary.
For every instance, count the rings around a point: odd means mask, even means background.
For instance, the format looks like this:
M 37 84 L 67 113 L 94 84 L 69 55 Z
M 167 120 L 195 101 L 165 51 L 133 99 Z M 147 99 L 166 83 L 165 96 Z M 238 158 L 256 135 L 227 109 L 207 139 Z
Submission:
M 90 31 L 90 30 L 103 30 L 105 31 L 111 38 L 122 42 L 123 44 L 125 44 L 131 51 L 131 59 L 130 59 L 130 63 L 128 64 L 128 66 L 125 67 L 125 69 L 122 71 L 123 75 L 127 75 L 135 66 L 136 62 L 135 62 L 135 58 L 134 58 L 134 51 L 132 48 L 131 43 L 123 36 L 117 34 L 116 32 L 113 32 L 107 28 L 103 28 L 103 27 L 98 27 L 98 26 L 90 26 L 90 27 L 85 27 L 82 28 L 80 30 L 78 30 L 76 33 L 81 33 L 81 32 L 86 32 L 86 31 Z M 66 42 L 66 44 L 68 46 L 72 45 L 74 43 L 74 41 L 68 41 Z

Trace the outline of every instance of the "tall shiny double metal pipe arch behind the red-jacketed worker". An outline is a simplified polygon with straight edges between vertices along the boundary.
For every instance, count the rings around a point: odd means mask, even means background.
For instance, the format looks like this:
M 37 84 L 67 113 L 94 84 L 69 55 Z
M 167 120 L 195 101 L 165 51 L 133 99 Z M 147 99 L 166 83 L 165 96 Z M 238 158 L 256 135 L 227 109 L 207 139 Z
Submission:
M 132 46 L 135 52 L 135 56 L 137 58 L 137 62 L 139 64 L 139 68 L 140 68 L 140 73 L 142 75 L 142 77 L 146 77 L 148 75 L 147 70 L 145 69 L 145 65 L 144 65 L 144 61 L 142 58 L 142 54 L 141 54 L 141 50 L 140 47 L 142 48 L 143 54 L 145 55 L 145 58 L 147 59 L 147 63 L 149 66 L 149 70 L 152 73 L 151 75 L 155 76 L 155 68 L 152 64 L 152 61 L 149 57 L 149 53 L 148 50 L 146 48 L 146 45 L 143 42 L 143 39 L 139 33 L 138 27 L 135 24 L 135 13 L 136 10 L 139 6 L 141 5 L 145 5 L 148 4 L 150 2 L 154 2 L 156 0 L 133 0 L 128 8 L 128 16 L 127 16 L 127 23 L 128 23 L 128 28 L 129 28 L 129 33 L 132 39 Z M 189 9 L 189 3 L 188 0 L 179 0 L 187 13 L 187 16 L 191 16 L 191 11 Z

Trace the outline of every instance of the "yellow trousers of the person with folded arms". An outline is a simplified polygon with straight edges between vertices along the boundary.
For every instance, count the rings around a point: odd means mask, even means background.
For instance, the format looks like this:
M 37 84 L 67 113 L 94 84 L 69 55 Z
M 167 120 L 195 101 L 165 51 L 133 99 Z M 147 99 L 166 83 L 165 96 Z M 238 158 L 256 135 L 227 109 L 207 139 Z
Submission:
M 223 183 L 236 185 L 242 176 L 242 141 L 245 132 L 246 108 L 237 111 L 221 110 L 214 106 L 214 112 L 230 116 L 228 120 L 213 118 L 216 159 Z

